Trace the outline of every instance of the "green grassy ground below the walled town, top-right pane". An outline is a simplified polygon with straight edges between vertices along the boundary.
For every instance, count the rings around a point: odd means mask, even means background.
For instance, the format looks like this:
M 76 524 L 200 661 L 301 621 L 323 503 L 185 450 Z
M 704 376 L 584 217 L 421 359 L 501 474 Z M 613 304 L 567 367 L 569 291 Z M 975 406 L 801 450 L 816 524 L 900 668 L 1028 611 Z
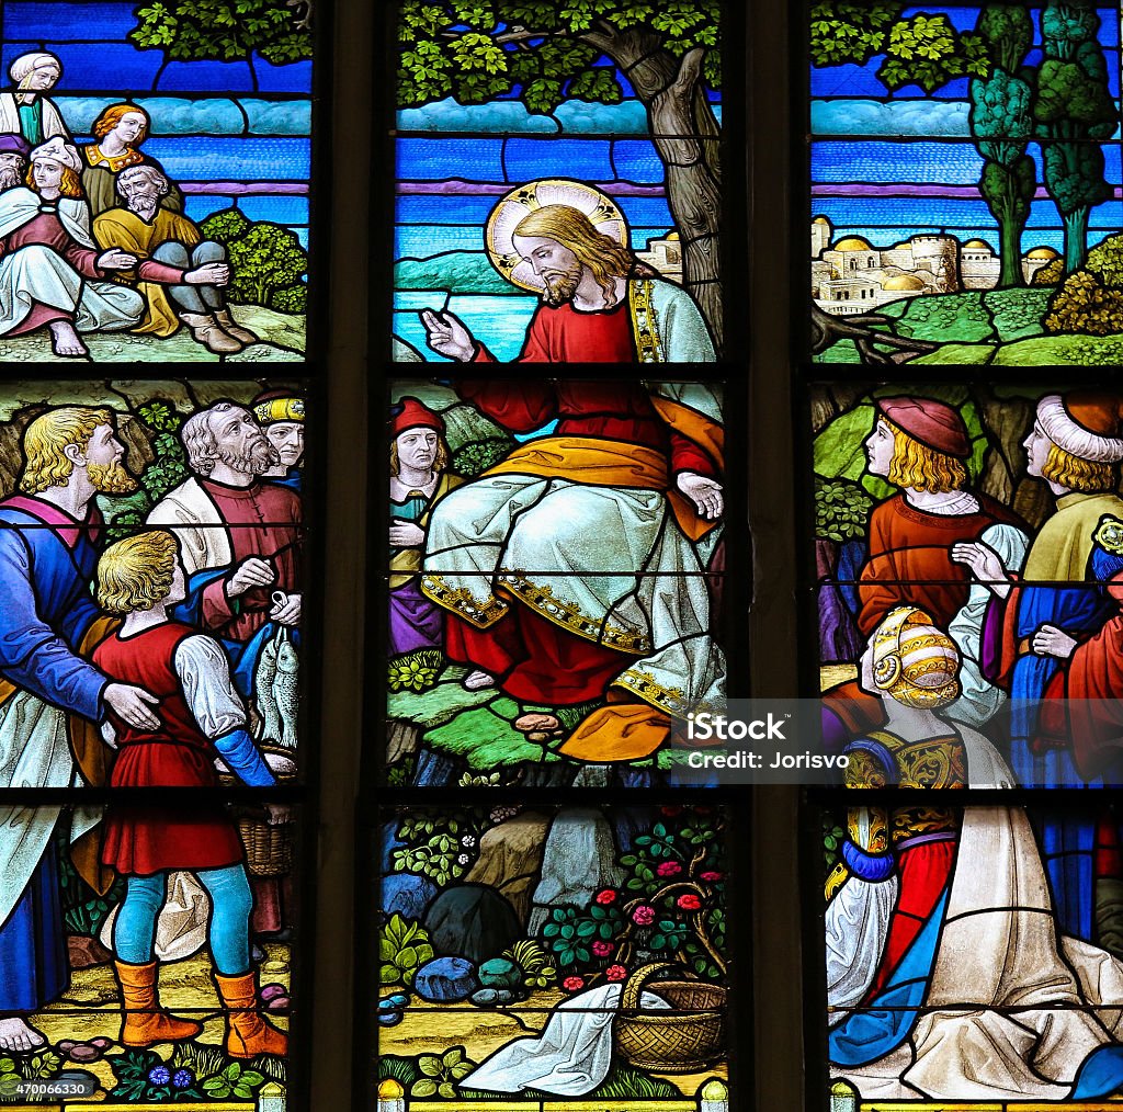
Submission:
M 1047 335 L 1042 318 L 1051 286 L 968 290 L 892 302 L 877 311 L 894 319 L 898 336 L 928 340 L 937 350 L 909 365 L 1101 366 L 1123 363 L 1123 335 Z M 859 363 L 850 340 L 834 344 L 819 363 Z

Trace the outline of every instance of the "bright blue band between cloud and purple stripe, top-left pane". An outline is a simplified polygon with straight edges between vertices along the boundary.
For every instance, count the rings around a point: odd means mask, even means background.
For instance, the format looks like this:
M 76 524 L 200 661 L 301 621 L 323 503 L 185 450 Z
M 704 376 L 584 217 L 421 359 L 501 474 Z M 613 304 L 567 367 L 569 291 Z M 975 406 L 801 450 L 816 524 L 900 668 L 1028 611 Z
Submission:
M 153 138 L 144 149 L 176 181 L 308 181 L 311 173 L 310 142 L 289 136 Z

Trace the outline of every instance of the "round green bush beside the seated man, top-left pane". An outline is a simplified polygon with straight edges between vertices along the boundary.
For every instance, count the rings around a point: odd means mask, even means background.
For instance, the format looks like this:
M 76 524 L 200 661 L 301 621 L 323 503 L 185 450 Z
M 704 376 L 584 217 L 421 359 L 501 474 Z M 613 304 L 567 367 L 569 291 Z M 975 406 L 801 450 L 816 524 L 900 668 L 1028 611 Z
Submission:
M 208 239 L 226 247 L 234 277 L 230 299 L 265 306 L 279 312 L 301 311 L 301 279 L 308 271 L 308 253 L 295 233 L 268 221 L 253 222 L 235 209 L 223 209 L 200 225 Z

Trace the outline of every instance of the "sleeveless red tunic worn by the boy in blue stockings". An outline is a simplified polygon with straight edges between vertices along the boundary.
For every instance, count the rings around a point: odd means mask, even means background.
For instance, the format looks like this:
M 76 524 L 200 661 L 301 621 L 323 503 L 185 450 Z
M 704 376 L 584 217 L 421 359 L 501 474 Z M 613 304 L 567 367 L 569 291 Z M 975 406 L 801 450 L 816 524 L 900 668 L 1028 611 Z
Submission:
M 94 649 L 94 663 L 121 683 L 138 684 L 159 698 L 159 729 L 136 730 L 110 713 L 120 751 L 113 787 L 213 787 L 214 749 L 199 729 L 175 672 L 175 650 L 198 630 L 179 622 L 131 637 L 112 634 Z M 243 859 L 241 841 L 221 805 L 192 804 L 190 811 L 113 805 L 106 818 L 102 862 L 126 876 L 152 876 L 175 868 L 222 868 Z

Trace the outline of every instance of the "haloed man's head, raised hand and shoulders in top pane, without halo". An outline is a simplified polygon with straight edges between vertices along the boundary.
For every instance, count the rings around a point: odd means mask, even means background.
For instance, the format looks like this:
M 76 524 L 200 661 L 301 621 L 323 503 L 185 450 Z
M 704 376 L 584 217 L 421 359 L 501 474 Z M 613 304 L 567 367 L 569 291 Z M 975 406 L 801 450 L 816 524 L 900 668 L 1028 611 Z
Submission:
M 581 209 L 545 204 L 514 228 L 519 284 L 540 290 L 519 363 L 713 363 L 713 341 L 691 295 L 646 267 Z M 503 261 L 501 261 L 503 262 Z M 501 271 L 503 266 L 501 265 Z M 514 280 L 514 279 L 512 279 Z M 495 363 L 450 312 L 424 310 L 435 352 L 460 363 Z

